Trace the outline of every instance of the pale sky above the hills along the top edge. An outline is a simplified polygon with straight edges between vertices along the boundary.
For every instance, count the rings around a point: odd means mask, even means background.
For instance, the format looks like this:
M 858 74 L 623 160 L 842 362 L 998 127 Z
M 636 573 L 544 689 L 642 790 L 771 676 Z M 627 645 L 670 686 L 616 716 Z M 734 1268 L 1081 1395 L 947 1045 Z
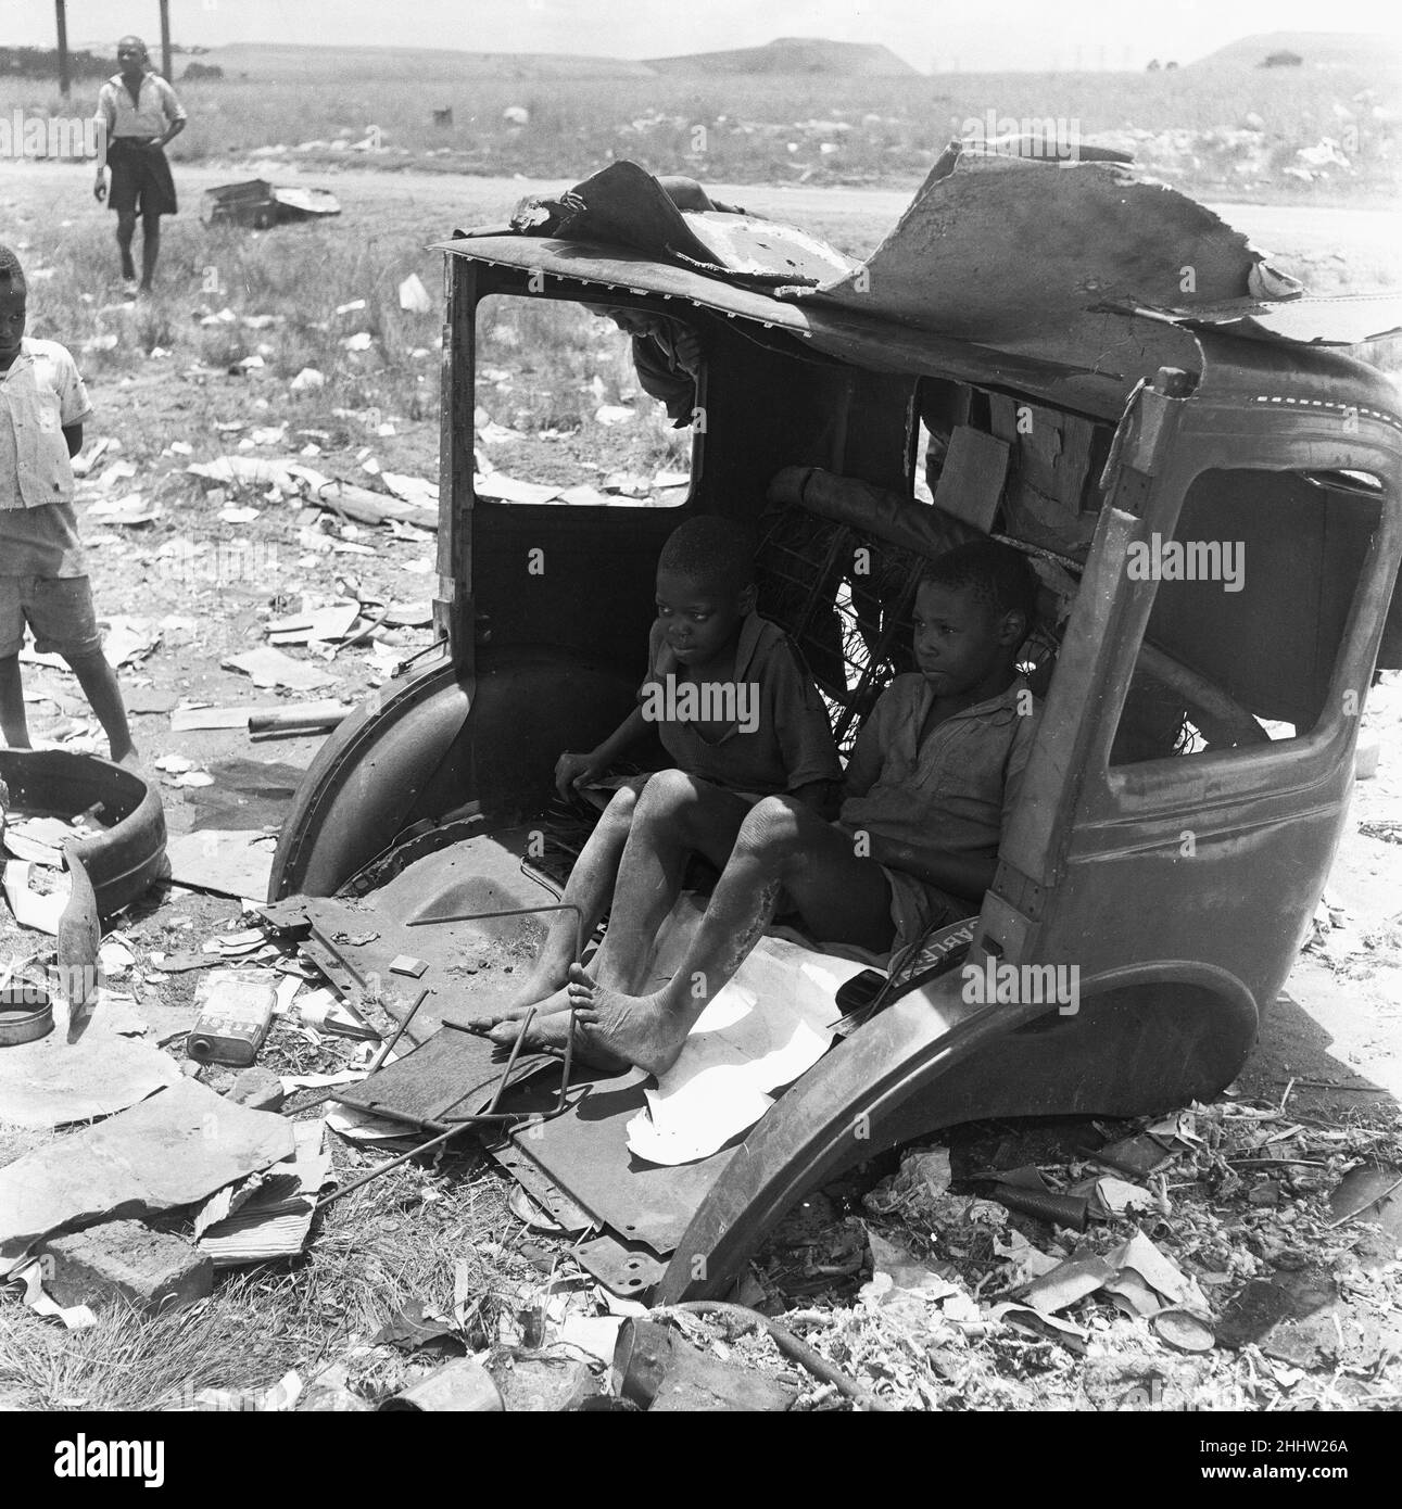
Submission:
M 75 47 L 158 39 L 157 0 L 68 0 Z M 51 0 L 0 0 L 0 42 L 53 45 Z M 177 42 L 340 42 L 658 57 L 776 36 L 884 42 L 921 69 L 1142 68 L 1253 32 L 1397 35 L 1396 0 L 171 0 Z

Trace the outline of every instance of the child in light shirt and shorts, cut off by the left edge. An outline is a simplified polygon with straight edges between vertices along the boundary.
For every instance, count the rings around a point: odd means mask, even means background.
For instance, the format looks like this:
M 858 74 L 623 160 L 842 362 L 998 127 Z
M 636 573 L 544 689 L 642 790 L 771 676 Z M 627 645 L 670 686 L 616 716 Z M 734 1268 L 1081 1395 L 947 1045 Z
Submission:
M 92 413 L 66 347 L 30 340 L 24 270 L 0 246 L 0 732 L 27 750 L 20 650 L 57 652 L 103 724 L 112 758 L 136 764 L 116 675 L 103 655 L 72 509 L 71 457 Z

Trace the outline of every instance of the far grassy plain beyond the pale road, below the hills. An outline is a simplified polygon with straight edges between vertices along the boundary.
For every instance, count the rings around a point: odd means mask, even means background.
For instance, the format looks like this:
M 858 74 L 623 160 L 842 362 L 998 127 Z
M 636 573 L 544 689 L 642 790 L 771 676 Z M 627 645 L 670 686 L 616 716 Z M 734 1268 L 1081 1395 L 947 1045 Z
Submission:
M 507 62 L 483 75 L 460 65 L 385 66 L 394 54 L 367 60 L 312 50 L 299 63 L 297 48 L 241 51 L 246 68 L 181 86 L 193 125 L 172 149 L 177 161 L 287 152 L 539 177 L 583 175 L 629 157 L 655 172 L 730 183 L 880 184 L 924 177 L 952 136 L 992 115 L 1065 122 L 1082 139 L 1133 149 L 1148 171 L 1191 192 L 1382 198 L 1396 187 L 1397 75 L 1385 59 L 1376 69 L 815 80 L 546 77 L 540 69 L 512 77 L 522 69 Z M 334 72 L 312 66 L 318 57 L 343 65 Z M 62 113 L 56 92 L 38 83 L 0 86 L 0 112 L 17 106 Z M 506 116 L 513 107 L 527 112 L 524 124 Z M 453 124 L 435 124 L 433 112 L 447 109 Z M 1248 118 L 1259 127 L 1245 130 Z M 1345 161 L 1298 157 L 1324 140 L 1337 143 Z M 368 146 L 358 151 L 358 142 Z

